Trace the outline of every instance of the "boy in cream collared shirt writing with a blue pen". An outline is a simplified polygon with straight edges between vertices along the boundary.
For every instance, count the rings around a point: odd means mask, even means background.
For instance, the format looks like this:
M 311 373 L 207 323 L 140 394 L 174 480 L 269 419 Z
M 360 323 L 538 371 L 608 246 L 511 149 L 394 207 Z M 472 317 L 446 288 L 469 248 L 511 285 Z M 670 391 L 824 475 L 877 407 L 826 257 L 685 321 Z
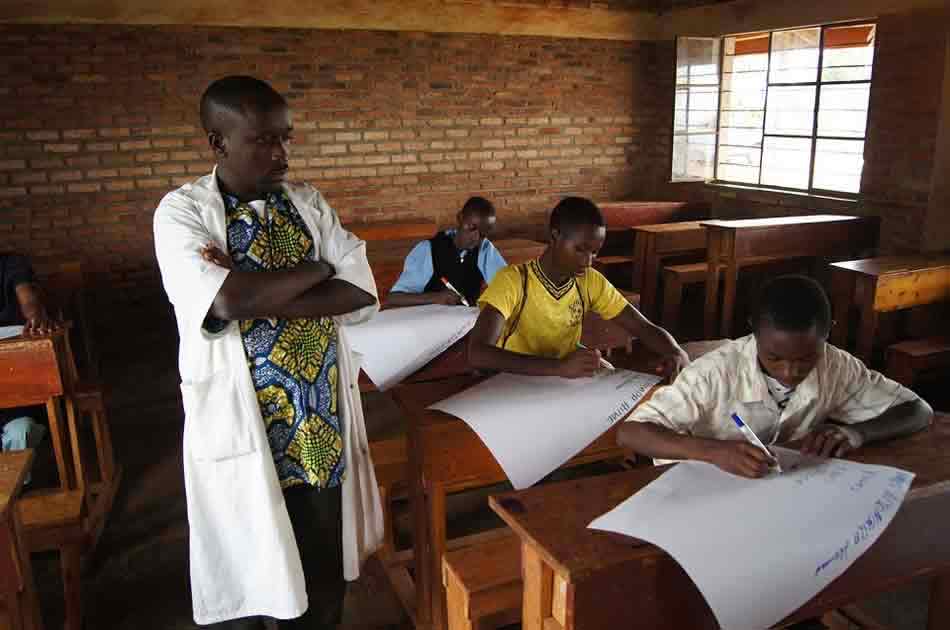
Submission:
M 933 410 L 914 392 L 828 343 L 831 307 L 813 279 L 772 280 L 750 323 L 753 334 L 697 359 L 640 405 L 620 444 L 755 478 L 772 458 L 743 438 L 733 414 L 765 445 L 803 439 L 803 453 L 822 457 L 930 423 Z

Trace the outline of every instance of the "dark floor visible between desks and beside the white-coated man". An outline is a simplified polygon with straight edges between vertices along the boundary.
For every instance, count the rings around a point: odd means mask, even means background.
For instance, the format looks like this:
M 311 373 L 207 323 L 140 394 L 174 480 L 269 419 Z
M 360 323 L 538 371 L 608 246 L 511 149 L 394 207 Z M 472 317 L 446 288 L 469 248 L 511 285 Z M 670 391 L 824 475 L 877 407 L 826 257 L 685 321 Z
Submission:
M 167 399 L 166 399 L 167 400 Z M 381 397 L 364 401 L 371 434 L 389 433 L 398 411 Z M 84 575 L 86 630 L 186 630 L 191 617 L 187 520 L 181 470 L 181 411 L 177 402 L 153 401 L 112 413 L 123 487 L 98 552 Z M 484 496 L 449 506 L 453 529 L 491 522 Z M 451 526 L 451 524 L 450 524 Z M 47 628 L 62 627 L 61 586 L 53 554 L 35 556 Z M 926 585 L 869 605 L 893 630 L 924 630 Z M 370 562 L 347 592 L 344 628 L 408 630 L 407 618 L 380 568 Z M 685 629 L 684 629 L 685 630 Z

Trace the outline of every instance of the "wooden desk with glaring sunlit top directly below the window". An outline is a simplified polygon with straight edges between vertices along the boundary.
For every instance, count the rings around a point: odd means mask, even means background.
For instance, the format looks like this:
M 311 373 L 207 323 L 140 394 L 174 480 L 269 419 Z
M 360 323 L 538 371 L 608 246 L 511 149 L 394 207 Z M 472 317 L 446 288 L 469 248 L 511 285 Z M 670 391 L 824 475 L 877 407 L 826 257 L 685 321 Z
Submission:
M 816 214 L 740 221 L 703 221 L 706 228 L 705 337 L 732 336 L 736 283 L 742 260 L 757 256 L 777 259 L 860 255 L 877 247 L 877 217 Z M 722 265 L 722 315 L 719 315 L 719 273 Z

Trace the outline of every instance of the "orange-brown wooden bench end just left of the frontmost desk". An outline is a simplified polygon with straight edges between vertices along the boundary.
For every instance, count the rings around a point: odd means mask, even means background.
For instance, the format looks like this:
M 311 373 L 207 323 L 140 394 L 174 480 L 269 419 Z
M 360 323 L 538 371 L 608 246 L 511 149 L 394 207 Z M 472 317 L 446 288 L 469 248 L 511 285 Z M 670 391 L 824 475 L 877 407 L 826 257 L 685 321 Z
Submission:
M 521 618 L 521 541 L 514 534 L 442 558 L 448 630 L 487 630 Z

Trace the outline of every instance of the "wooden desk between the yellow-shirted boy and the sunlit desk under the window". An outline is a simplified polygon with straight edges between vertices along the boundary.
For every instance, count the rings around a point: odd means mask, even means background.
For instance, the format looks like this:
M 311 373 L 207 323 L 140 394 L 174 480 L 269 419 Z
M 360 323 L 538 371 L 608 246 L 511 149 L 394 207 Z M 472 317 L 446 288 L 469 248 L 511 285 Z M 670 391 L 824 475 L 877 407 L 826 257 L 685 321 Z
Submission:
M 640 311 L 656 319 L 663 260 L 688 254 L 700 257 L 706 249 L 706 231 L 700 221 L 638 225 L 633 231 L 633 285 L 640 288 Z

